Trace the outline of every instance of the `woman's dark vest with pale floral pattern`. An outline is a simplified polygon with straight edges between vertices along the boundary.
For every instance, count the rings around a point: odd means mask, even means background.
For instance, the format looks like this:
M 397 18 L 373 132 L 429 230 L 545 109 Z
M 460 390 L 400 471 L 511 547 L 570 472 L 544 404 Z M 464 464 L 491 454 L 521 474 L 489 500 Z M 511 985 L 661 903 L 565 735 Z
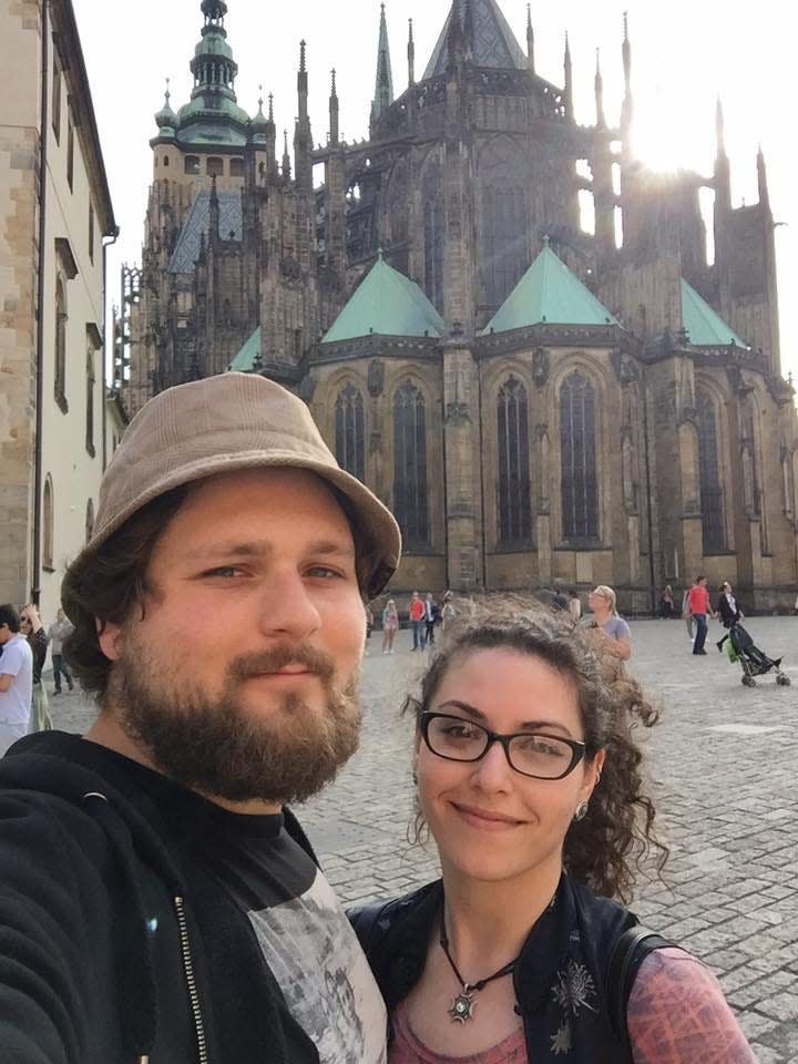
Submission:
M 438 881 L 389 902 L 378 915 L 375 910 L 375 920 L 352 920 L 389 1014 L 421 978 L 442 904 L 443 888 Z M 669 944 L 649 937 L 640 948 L 624 950 L 620 974 L 616 945 L 636 925 L 637 918 L 623 906 L 562 877 L 554 900 L 524 942 L 513 973 L 530 1061 L 632 1061 L 625 1031 L 627 988 L 632 985 L 627 975 L 634 976 L 652 949 Z M 634 934 L 625 941 L 632 938 Z M 610 1000 L 620 994 L 621 1020 L 618 1002 Z

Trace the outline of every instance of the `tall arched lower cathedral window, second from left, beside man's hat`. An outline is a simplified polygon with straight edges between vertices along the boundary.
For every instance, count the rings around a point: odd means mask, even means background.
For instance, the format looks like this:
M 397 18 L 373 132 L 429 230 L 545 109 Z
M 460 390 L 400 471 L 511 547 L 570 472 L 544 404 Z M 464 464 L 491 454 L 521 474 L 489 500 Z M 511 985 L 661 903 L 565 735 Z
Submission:
M 393 396 L 393 514 L 408 549 L 429 544 L 427 416 L 423 393 L 409 380 Z

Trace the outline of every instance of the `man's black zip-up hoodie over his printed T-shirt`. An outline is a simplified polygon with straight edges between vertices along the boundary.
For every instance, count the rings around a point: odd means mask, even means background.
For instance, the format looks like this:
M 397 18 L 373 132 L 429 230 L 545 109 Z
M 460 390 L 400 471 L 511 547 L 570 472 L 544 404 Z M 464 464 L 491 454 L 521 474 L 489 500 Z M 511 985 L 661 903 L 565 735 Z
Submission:
M 2 1064 L 318 1064 L 184 799 L 64 733 L 0 760 Z

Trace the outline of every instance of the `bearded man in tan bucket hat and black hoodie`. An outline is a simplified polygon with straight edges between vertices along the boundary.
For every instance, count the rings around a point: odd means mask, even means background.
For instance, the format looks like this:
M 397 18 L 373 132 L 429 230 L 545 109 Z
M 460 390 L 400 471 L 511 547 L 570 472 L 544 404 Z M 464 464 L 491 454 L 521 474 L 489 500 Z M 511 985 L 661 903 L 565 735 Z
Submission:
M 390 513 L 299 399 L 227 374 L 151 400 L 69 570 L 99 717 L 0 761 L 0 1056 L 382 1064 L 386 1013 L 287 804 L 358 744 Z

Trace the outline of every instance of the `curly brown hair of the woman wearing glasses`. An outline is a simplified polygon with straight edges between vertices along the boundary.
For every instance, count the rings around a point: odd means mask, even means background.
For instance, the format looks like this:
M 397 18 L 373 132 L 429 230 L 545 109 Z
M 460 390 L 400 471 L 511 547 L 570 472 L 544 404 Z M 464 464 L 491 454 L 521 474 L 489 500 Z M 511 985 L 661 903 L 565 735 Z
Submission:
M 655 851 L 662 871 L 669 853 L 654 833 L 656 810 L 645 791 L 643 753 L 634 734 L 636 724 L 653 727 L 658 714 L 635 679 L 625 677 L 614 684 L 602 679 L 589 643 L 570 617 L 519 597 L 487 597 L 468 605 L 468 616 L 447 632 L 424 674 L 420 698 L 409 697 L 405 709 L 415 714 L 418 726 L 449 669 L 478 651 L 529 654 L 571 679 L 579 697 L 586 759 L 591 761 L 602 749 L 606 759 L 587 816 L 574 821 L 565 836 L 563 863 L 596 893 L 627 902 L 642 862 Z M 417 836 L 422 823 L 419 815 Z

